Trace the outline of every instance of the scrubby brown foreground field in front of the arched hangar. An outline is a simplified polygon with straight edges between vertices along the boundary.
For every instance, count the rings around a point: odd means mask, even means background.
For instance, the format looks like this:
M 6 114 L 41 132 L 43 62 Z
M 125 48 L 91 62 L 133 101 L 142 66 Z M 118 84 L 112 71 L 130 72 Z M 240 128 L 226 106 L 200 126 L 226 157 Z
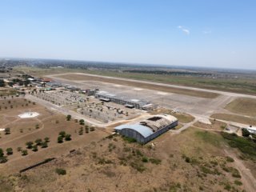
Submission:
M 191 127 L 141 146 L 120 136 L 4 180 L 5 191 L 242 191 L 221 135 Z M 171 147 L 170 147 L 171 146 Z M 56 174 L 56 168 L 66 175 Z M 247 190 L 248 191 L 248 190 Z

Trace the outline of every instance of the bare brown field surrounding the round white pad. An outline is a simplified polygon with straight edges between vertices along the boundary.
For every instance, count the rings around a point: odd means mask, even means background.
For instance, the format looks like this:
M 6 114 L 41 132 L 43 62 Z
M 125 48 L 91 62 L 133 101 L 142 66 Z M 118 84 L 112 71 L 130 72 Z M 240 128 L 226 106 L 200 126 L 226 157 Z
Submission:
M 10 134 L 5 134 L 4 131 L 0 132 L 0 148 L 6 150 L 11 147 L 14 151 L 12 155 L 7 156 L 8 162 L 0 164 L 0 174 L 17 172 L 26 168 L 26 166 L 31 166 L 46 158 L 58 157 L 78 146 L 98 141 L 108 135 L 100 128 L 86 134 L 85 126 L 79 125 L 79 122 L 75 122 L 74 119 L 71 118 L 70 121 L 66 121 L 64 115 L 48 110 L 38 103 L 30 102 L 24 98 L 2 100 L 0 106 L 0 128 L 10 128 Z M 18 114 L 28 111 L 37 112 L 39 115 L 35 118 L 18 117 Z M 82 134 L 79 134 L 81 127 L 83 131 Z M 60 131 L 71 134 L 71 141 L 58 143 L 57 138 Z M 26 142 L 34 142 L 38 138 L 44 140 L 46 137 L 50 138 L 48 147 L 38 146 L 36 152 L 26 149 Z M 17 150 L 18 147 L 28 150 L 28 155 L 22 156 L 22 153 Z

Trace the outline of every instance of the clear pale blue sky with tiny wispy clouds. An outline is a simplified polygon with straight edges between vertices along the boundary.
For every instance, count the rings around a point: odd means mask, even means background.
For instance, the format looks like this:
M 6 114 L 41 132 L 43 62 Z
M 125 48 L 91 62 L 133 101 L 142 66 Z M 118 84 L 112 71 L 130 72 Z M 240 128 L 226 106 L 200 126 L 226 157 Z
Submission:
M 0 0 L 0 57 L 256 70 L 255 10 L 255 0 Z

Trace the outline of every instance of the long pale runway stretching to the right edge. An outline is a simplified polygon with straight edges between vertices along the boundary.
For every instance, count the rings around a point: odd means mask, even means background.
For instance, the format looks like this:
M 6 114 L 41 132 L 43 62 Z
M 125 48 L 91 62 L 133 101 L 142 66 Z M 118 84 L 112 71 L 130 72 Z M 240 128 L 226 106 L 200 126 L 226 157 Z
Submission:
M 184 90 L 198 90 L 198 91 L 204 91 L 204 92 L 214 93 L 214 94 L 224 94 L 224 95 L 231 96 L 231 97 L 256 98 L 255 95 L 250 95 L 250 94 L 236 94 L 236 93 L 226 92 L 226 91 L 221 91 L 221 90 L 206 90 L 206 89 L 196 88 L 196 87 L 191 87 L 191 86 L 176 86 L 176 85 L 170 85 L 170 84 L 161 83 L 161 82 L 147 82 L 147 81 L 142 81 L 142 80 L 134 80 L 134 79 L 130 79 L 130 78 L 114 78 L 114 77 L 107 77 L 107 76 L 102 76 L 102 75 L 97 75 L 97 74 L 82 74 L 82 73 L 67 73 L 67 74 L 80 74 L 80 75 L 86 75 L 86 76 L 90 76 L 90 77 L 122 80 L 122 81 L 126 81 L 126 82 L 140 82 L 140 83 L 146 83 L 146 84 L 155 85 L 155 86 L 166 86 L 166 87 L 173 87 L 173 88 L 184 89 Z M 46 77 L 63 80 L 65 78 L 58 78 L 58 75 L 67 75 L 67 74 L 51 74 L 51 75 L 46 75 Z M 67 79 L 65 79 L 65 80 L 67 80 Z M 69 81 L 75 82 L 72 80 L 69 80 Z

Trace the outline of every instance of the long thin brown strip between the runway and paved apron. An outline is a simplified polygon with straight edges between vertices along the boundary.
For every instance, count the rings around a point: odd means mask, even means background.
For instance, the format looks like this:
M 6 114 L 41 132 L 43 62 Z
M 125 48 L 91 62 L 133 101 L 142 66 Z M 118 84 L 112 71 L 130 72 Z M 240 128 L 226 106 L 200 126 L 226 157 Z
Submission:
M 92 76 L 87 76 L 86 74 L 58 74 L 56 75 L 58 78 L 65 78 L 68 80 L 76 80 L 76 81 L 99 81 L 99 82 L 110 82 L 110 83 L 115 83 L 119 85 L 124 85 L 124 86 L 136 86 L 140 87 L 143 89 L 150 89 L 150 90 L 159 90 L 159 91 L 165 91 L 165 92 L 170 92 L 174 94 L 186 94 L 194 97 L 199 97 L 199 98 L 217 98 L 218 94 L 214 93 L 209 93 L 209 92 L 204 92 L 204 91 L 198 91 L 198 90 L 185 90 L 185 89 L 178 89 L 174 87 L 168 87 L 168 86 L 154 86 L 150 85 L 148 83 L 142 83 L 142 82 L 130 82 L 126 80 L 120 80 L 120 79 L 111 79 L 111 78 L 99 78 L 99 77 L 92 77 Z

